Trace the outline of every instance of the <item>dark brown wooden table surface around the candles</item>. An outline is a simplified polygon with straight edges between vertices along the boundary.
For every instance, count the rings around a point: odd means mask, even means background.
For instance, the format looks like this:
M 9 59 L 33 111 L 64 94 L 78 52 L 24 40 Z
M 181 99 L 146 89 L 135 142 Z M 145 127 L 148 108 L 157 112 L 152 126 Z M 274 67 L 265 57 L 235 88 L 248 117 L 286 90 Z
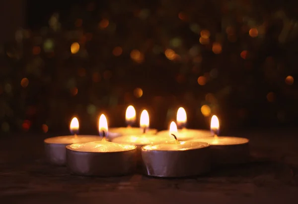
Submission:
M 0 204 L 297 204 L 297 130 L 258 130 L 250 139 L 253 159 L 192 178 L 160 179 L 141 174 L 99 178 L 70 175 L 44 159 L 49 135 L 0 139 Z

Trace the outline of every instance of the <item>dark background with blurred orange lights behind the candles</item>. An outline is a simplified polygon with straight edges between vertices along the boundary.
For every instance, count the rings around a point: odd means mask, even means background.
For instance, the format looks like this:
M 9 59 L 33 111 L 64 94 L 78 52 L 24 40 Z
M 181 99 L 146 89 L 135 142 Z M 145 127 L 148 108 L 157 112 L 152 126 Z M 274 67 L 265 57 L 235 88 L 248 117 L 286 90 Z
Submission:
M 190 128 L 213 114 L 222 130 L 296 126 L 294 0 L 22 3 L 23 28 L 1 47 L 3 133 L 67 132 L 74 115 L 96 133 L 100 113 L 125 126 L 129 104 L 158 129 L 179 106 Z

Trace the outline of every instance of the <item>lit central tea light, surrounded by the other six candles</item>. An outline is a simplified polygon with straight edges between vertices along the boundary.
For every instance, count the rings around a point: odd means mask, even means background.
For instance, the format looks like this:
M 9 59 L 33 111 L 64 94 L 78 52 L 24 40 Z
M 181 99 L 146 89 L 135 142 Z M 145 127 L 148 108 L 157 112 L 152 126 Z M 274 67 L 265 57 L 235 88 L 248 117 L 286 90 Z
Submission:
M 146 129 L 149 127 L 149 114 L 147 110 L 143 110 L 140 118 L 141 127 L 143 127 L 143 132 L 146 132 Z M 144 133 L 142 135 L 125 135 L 121 137 L 117 137 L 112 139 L 114 143 L 120 144 L 131 144 L 137 146 L 138 151 L 138 160 L 141 160 L 141 148 L 145 145 L 150 144 L 160 144 L 160 143 L 167 143 L 173 141 L 174 139 L 169 137 L 168 135 L 152 135 L 148 133 Z

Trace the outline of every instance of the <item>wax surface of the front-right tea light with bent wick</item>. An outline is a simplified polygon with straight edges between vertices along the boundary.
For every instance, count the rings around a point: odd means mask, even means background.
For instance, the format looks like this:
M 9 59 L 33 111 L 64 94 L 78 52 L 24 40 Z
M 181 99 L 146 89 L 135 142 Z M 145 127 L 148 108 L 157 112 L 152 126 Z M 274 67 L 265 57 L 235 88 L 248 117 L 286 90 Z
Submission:
M 208 147 L 209 144 L 205 142 L 193 142 L 193 141 L 175 141 L 171 143 L 163 143 L 158 145 L 147 145 L 143 147 L 143 150 L 155 150 L 155 151 L 183 151 L 193 150 Z

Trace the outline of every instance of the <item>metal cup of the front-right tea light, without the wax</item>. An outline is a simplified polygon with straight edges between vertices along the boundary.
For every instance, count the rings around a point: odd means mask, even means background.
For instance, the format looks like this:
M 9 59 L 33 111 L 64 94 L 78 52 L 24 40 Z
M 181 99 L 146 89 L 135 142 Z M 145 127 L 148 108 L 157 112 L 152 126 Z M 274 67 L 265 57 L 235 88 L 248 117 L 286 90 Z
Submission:
M 185 177 L 208 172 L 211 167 L 210 145 L 208 143 L 196 145 L 201 147 L 189 150 L 158 150 L 158 145 L 156 150 L 152 150 L 149 146 L 143 147 L 145 174 L 154 177 Z

